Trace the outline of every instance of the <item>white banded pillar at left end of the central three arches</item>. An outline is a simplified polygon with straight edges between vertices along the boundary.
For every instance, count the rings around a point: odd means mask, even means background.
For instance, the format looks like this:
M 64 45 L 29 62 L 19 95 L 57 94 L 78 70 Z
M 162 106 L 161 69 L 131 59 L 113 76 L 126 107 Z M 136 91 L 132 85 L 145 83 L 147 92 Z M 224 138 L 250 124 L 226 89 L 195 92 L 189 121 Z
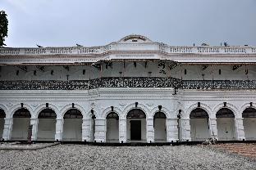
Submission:
M 96 142 L 106 142 L 106 119 L 95 119 L 95 139 Z

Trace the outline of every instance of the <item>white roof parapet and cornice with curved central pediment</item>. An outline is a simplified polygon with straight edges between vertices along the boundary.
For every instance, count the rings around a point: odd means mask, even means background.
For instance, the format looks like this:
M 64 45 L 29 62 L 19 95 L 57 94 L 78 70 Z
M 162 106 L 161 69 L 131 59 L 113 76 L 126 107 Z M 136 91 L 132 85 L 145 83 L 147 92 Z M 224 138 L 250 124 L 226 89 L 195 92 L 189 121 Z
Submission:
M 254 63 L 256 47 L 176 47 L 129 35 L 98 47 L 0 48 L 0 65 L 84 64 L 102 60 L 173 60 L 180 63 Z

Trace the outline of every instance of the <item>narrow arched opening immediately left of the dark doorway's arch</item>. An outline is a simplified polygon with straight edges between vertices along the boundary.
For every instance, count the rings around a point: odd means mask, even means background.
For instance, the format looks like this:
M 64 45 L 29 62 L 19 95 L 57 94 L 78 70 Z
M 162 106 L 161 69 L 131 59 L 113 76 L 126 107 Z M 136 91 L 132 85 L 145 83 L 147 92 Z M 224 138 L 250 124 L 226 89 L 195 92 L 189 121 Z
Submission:
M 119 116 L 115 112 L 107 114 L 107 141 L 119 141 Z

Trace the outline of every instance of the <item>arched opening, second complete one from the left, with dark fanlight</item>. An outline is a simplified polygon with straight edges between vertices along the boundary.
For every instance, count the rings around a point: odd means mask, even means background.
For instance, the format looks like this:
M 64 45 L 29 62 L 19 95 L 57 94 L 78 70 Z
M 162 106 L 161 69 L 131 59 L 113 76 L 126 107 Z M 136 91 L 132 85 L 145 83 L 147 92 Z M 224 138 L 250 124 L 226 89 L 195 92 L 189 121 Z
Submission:
M 57 115 L 51 109 L 44 109 L 39 113 L 39 127 L 37 140 L 54 141 Z

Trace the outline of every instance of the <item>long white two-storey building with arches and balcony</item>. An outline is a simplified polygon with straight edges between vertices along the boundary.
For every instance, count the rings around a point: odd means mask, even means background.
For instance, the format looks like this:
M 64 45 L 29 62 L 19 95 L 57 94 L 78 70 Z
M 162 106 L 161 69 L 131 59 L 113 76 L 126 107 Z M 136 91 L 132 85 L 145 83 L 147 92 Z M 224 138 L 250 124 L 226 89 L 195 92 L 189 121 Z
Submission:
M 256 140 L 256 47 L 0 48 L 0 138 Z

